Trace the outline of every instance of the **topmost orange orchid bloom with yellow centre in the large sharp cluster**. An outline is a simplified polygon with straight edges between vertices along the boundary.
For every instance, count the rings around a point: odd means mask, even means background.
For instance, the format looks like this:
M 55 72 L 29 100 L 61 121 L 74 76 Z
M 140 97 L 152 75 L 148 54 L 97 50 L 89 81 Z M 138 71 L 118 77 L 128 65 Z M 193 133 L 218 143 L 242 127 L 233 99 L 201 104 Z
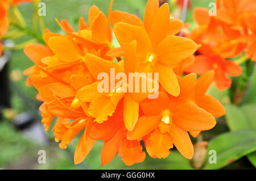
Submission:
M 131 41 L 137 41 L 135 70 L 158 72 L 164 89 L 171 95 L 179 95 L 180 87 L 172 66 L 191 56 L 197 45 L 189 39 L 175 36 L 183 27 L 183 22 L 170 19 L 168 4 L 159 8 L 158 0 L 149 0 L 144 23 L 137 16 L 118 10 L 110 12 L 110 21 L 122 50 Z

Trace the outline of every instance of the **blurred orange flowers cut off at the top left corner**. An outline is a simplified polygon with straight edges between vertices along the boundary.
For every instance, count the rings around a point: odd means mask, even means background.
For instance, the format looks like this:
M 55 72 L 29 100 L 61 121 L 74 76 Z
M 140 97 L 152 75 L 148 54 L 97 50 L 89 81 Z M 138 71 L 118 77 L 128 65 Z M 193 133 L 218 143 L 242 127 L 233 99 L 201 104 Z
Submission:
M 34 0 L 13 0 L 12 3 L 14 6 L 18 6 L 21 2 L 32 2 Z M 3 34 L 8 31 L 9 21 L 7 18 L 7 11 L 10 7 L 10 0 L 1 0 L 0 1 L 0 40 Z M 0 57 L 2 56 L 2 43 L 0 41 Z

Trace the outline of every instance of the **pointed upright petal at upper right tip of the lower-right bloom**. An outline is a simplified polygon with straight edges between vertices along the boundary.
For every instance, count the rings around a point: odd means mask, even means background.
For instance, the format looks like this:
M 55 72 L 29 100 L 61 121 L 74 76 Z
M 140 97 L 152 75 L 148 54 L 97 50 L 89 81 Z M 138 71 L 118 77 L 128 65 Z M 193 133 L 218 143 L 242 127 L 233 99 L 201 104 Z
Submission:
M 210 85 L 212 84 L 213 77 L 214 77 L 213 70 L 207 71 L 207 73 L 201 75 L 201 77 L 196 82 L 196 88 L 195 88 L 196 98 L 206 94 Z

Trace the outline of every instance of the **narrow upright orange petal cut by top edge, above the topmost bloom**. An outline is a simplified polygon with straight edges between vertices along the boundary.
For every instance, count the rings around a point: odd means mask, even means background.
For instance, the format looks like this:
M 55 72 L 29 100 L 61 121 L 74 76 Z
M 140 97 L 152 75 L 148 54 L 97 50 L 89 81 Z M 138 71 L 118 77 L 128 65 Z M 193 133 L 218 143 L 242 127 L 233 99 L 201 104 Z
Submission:
M 159 9 L 159 1 L 158 0 L 148 0 L 147 6 L 144 14 L 144 26 L 147 32 L 151 30 L 152 20 L 156 14 L 156 11 Z

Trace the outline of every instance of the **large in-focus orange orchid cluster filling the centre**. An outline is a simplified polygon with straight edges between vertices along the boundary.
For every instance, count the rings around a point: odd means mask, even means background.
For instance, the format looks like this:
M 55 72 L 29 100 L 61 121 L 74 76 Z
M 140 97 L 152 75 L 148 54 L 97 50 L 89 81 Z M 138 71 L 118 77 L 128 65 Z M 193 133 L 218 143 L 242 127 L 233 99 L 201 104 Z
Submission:
M 166 158 L 175 145 L 191 159 L 188 132 L 197 136 L 214 127 L 214 117 L 225 114 L 218 100 L 205 95 L 214 72 L 208 71 L 198 81 L 195 73 L 180 76 L 192 64 L 197 45 L 175 36 L 183 22 L 170 19 L 167 3 L 159 8 L 158 0 L 149 0 L 143 22 L 133 14 L 112 11 L 112 3 L 109 17 L 92 6 L 89 23 L 80 18 L 78 32 L 61 20 L 58 23 L 67 35 L 46 30 L 46 47 L 28 44 L 24 48 L 35 62 L 24 74 L 29 76 L 27 85 L 33 85 L 39 91 L 36 97 L 44 102 L 40 106 L 42 123 L 48 130 L 57 117 L 52 131 L 61 149 L 82 131 L 75 163 L 85 159 L 97 140 L 104 141 L 102 165 L 117 153 L 126 165 L 143 162 L 142 140 L 153 158 Z M 121 47 L 112 45 L 113 30 Z M 116 61 L 115 57 L 120 58 Z M 99 92 L 98 75 L 111 76 L 111 69 L 114 77 L 118 73 L 159 73 L 158 98 L 149 99 L 148 91 L 120 91 L 133 86 L 130 82 L 122 86 L 115 82 L 115 87 L 109 84 L 109 92 Z

